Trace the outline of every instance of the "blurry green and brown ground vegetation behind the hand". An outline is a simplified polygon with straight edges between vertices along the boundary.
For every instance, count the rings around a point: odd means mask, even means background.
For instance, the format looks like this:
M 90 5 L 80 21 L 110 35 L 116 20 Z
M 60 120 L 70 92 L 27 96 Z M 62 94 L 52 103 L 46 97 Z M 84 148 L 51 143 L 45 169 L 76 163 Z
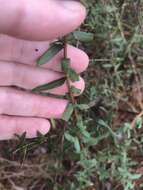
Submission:
M 46 137 L 1 143 L 1 189 L 143 188 L 143 2 L 85 4 L 94 40 L 73 42 L 90 57 L 77 126 L 52 120 Z

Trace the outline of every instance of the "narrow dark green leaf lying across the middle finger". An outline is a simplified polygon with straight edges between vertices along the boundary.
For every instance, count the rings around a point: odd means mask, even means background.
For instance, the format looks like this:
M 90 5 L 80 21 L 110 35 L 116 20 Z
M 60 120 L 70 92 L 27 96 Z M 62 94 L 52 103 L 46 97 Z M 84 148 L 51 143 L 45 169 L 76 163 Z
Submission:
M 53 88 L 63 85 L 65 83 L 65 81 L 66 81 L 66 78 L 64 77 L 64 78 L 52 81 L 50 83 L 38 86 L 38 87 L 34 88 L 32 91 L 39 92 L 39 91 L 44 91 L 44 90 L 50 90 L 50 89 L 53 89 Z

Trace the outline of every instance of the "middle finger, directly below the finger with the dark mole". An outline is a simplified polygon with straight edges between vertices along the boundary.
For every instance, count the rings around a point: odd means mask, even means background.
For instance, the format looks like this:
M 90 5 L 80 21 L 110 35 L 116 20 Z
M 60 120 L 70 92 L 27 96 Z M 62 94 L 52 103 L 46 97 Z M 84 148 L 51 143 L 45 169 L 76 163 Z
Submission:
M 62 78 L 64 75 L 52 70 L 32 67 L 25 64 L 0 61 L 0 86 L 17 86 L 31 90 L 39 85 Z M 84 90 L 84 80 L 72 83 L 81 92 Z M 66 82 L 54 89 L 49 90 L 53 94 L 64 95 L 68 92 Z

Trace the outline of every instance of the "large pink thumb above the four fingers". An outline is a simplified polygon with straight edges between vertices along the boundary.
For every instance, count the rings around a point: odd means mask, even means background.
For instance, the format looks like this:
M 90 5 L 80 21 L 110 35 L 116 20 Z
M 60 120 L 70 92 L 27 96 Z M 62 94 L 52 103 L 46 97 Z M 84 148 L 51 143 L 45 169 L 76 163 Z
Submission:
M 0 0 L 0 33 L 49 40 L 75 30 L 85 8 L 74 0 Z

